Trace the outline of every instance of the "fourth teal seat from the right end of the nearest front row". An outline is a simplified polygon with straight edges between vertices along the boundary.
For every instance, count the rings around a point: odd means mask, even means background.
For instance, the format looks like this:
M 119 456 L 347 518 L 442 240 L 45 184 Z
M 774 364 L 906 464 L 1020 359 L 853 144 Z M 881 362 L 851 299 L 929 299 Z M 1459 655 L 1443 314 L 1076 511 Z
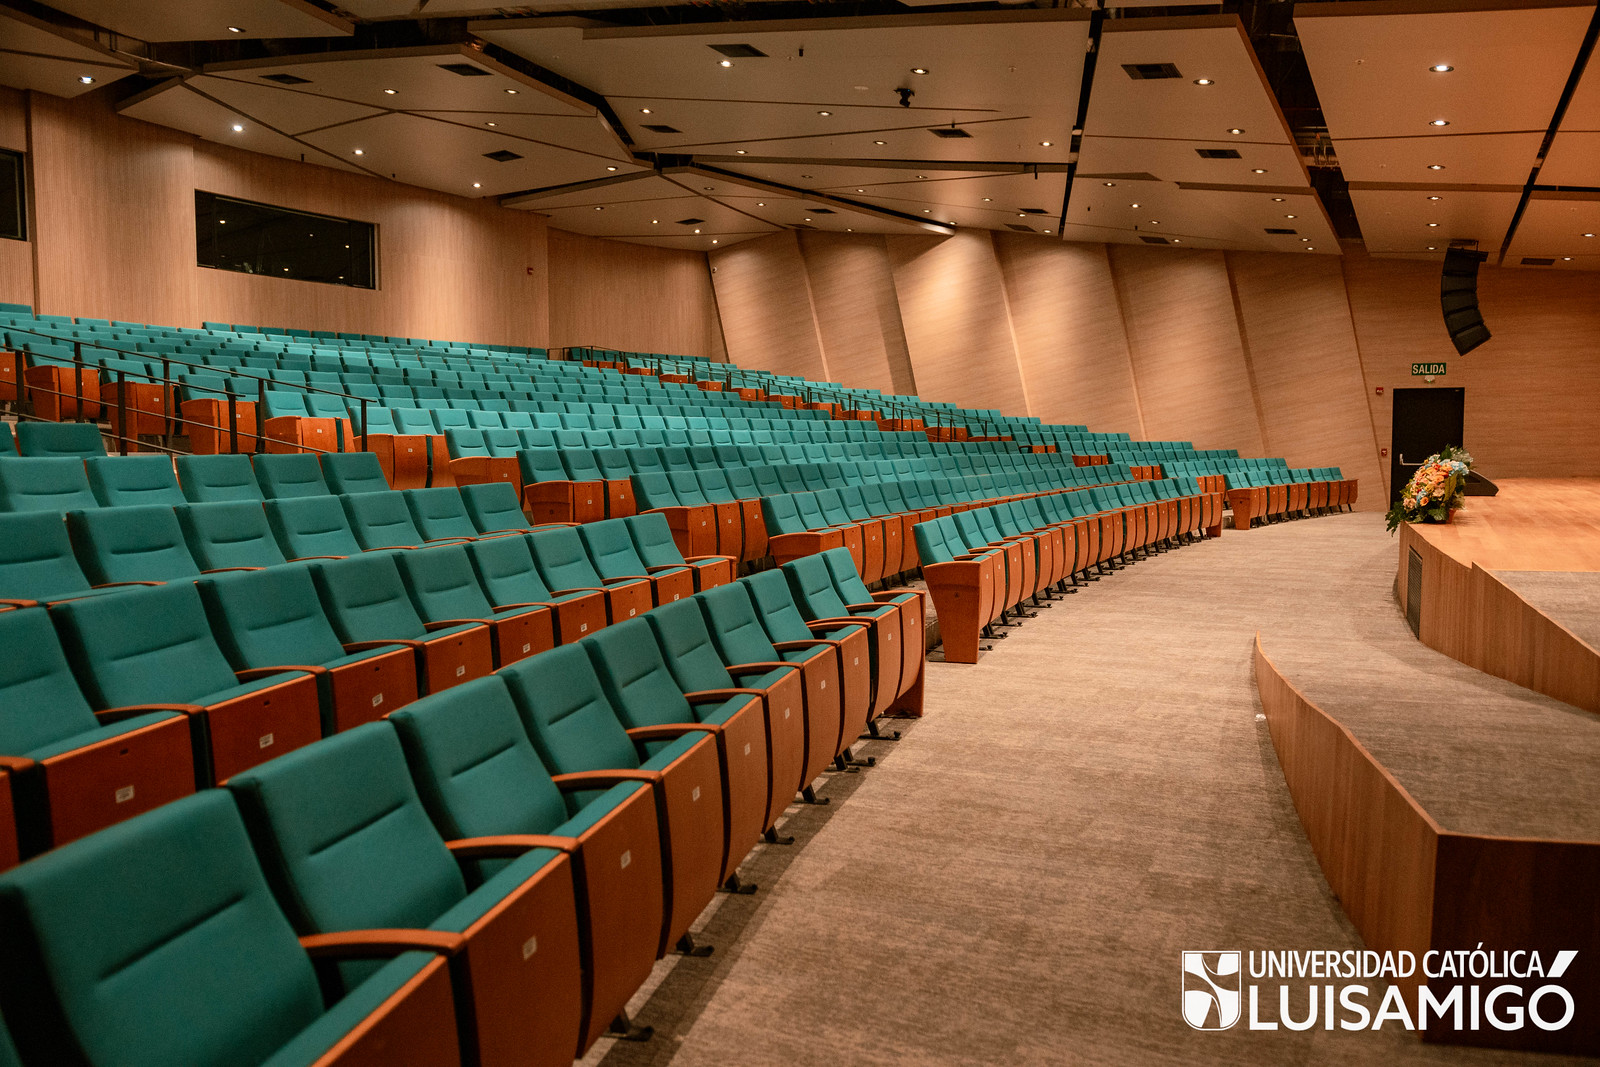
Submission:
M 706 617 L 717 654 L 725 664 L 741 664 L 749 667 L 773 669 L 778 664 L 792 664 L 800 669 L 803 688 L 802 710 L 805 718 L 805 737 L 800 769 L 800 792 L 811 803 L 816 803 L 816 792 L 811 784 L 827 769 L 845 749 L 845 745 L 867 728 L 867 704 L 870 694 L 862 686 L 859 701 L 851 709 L 848 737 L 845 705 L 842 702 L 842 685 L 838 673 L 838 651 L 821 641 L 794 641 L 787 649 L 779 649 L 762 629 L 762 622 L 750 603 L 750 595 L 741 584 L 728 584 L 710 589 L 694 600 Z M 768 715 L 771 704 L 768 702 Z M 854 721 L 859 718 L 859 723 Z M 771 741 L 768 742 L 771 744 Z

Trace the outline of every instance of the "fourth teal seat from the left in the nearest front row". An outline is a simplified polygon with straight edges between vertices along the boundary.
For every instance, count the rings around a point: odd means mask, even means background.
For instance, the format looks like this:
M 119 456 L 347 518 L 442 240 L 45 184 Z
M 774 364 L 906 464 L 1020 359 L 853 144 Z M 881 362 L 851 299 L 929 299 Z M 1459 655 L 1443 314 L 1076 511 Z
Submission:
M 582 645 L 523 659 L 498 677 L 539 760 L 566 793 L 568 811 L 603 798 L 616 785 L 651 787 L 664 915 L 656 955 L 674 944 L 694 955 L 709 953 L 710 949 L 694 947 L 690 925 L 715 896 L 726 851 L 715 739 L 698 725 L 686 725 L 675 741 L 645 757 L 645 742 L 629 737 Z

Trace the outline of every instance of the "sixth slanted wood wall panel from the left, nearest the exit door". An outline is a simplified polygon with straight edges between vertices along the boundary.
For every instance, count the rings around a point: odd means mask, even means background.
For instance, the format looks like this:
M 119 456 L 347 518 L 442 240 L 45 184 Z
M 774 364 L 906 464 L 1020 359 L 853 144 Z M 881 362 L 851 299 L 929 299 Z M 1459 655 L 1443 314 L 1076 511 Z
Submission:
M 1373 486 L 1360 507 L 1382 510 L 1379 445 L 1339 261 L 1227 253 L 1227 267 L 1267 454 L 1290 467 L 1336 466 Z

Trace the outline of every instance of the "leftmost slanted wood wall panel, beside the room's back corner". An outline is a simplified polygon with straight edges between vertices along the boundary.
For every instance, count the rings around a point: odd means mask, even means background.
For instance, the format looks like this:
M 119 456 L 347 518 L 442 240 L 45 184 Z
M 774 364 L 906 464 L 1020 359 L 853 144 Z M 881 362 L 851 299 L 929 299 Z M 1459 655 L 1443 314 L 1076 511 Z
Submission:
M 794 230 L 710 254 L 728 358 L 739 366 L 832 381 Z

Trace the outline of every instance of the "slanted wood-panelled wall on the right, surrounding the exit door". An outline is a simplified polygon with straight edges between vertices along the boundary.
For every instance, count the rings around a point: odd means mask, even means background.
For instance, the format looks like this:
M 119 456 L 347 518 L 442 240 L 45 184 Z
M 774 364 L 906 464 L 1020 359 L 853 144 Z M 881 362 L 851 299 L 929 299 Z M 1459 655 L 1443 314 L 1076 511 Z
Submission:
M 914 381 L 931 400 L 1338 466 L 1366 485 L 1358 507 L 1381 510 L 1394 389 L 1424 384 L 1413 362 L 1445 362 L 1435 386 L 1466 387 L 1466 445 L 1491 478 L 1600 477 L 1594 272 L 1485 267 L 1494 339 L 1458 357 L 1438 266 L 1358 245 L 1286 256 L 803 234 L 712 264 L 728 355 L 744 366 L 826 365 L 853 386 Z

